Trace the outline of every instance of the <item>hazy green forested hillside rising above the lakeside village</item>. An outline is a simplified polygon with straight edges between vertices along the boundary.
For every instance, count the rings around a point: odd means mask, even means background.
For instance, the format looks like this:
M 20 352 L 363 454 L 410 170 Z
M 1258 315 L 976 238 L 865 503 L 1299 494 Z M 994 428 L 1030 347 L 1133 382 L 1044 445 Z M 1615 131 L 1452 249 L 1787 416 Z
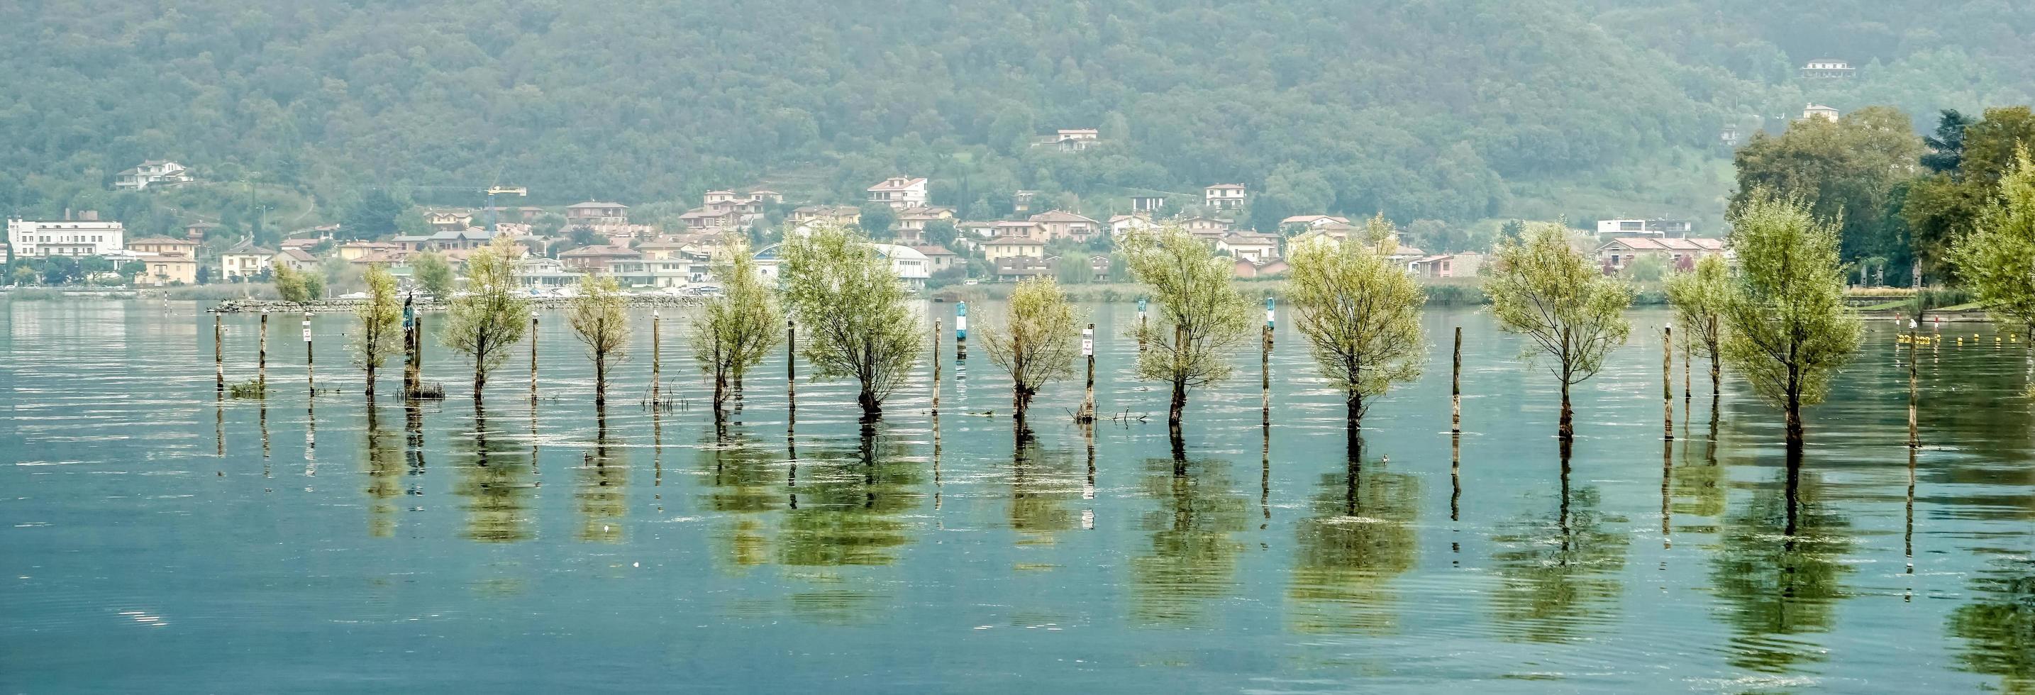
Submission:
M 1722 126 L 2035 91 L 2023 2 L 49 0 L 0 22 L 0 207 L 134 217 L 112 173 L 177 159 L 326 211 L 490 183 L 855 199 L 912 173 L 969 217 L 1221 181 L 1258 222 L 1713 219 Z M 1795 77 L 1823 55 L 1860 75 Z M 1054 128 L 1105 144 L 1030 146 Z

